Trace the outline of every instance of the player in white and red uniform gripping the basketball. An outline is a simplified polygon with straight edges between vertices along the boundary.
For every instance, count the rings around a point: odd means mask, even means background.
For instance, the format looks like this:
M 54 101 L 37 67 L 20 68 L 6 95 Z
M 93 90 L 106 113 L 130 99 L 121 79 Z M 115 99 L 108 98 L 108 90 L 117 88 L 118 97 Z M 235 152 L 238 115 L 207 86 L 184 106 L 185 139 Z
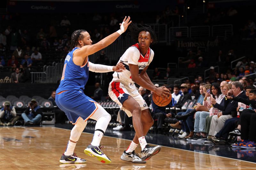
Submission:
M 155 32 L 150 26 L 137 24 L 131 24 L 129 30 L 132 38 L 138 43 L 128 48 L 118 61 L 118 63 L 122 62 L 124 64 L 126 70 L 120 73 L 114 72 L 113 79 L 109 84 L 108 94 L 129 117 L 132 116 L 133 127 L 136 132 L 131 144 L 123 152 L 121 159 L 133 163 L 146 163 L 146 160 L 161 150 L 161 146 L 150 146 L 146 142 L 145 135 L 153 125 L 154 120 L 134 83 L 163 98 L 168 98 L 167 95 L 170 91 L 163 87 L 156 88 L 146 72 L 154 57 L 154 51 L 149 46 L 157 41 Z M 134 152 L 139 143 L 141 158 Z

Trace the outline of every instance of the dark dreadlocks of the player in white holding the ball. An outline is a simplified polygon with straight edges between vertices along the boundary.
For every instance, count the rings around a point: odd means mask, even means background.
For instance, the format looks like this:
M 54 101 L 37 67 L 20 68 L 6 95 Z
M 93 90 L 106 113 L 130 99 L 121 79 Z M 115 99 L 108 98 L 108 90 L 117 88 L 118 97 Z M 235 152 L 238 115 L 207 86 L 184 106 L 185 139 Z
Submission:
M 152 44 L 155 44 L 157 42 L 156 33 L 149 25 L 146 25 L 146 24 L 141 25 L 141 24 L 137 24 L 137 23 L 131 23 L 128 28 L 130 30 L 132 39 L 134 39 L 135 41 L 138 41 L 139 33 L 141 31 L 146 31 L 146 32 L 150 33 L 151 39 L 153 39 Z

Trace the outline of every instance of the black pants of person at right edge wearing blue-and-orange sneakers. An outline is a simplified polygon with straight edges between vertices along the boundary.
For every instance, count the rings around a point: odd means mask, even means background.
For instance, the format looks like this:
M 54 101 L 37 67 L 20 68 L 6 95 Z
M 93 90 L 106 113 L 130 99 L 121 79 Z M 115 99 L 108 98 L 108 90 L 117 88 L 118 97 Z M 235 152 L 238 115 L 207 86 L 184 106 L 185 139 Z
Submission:
M 241 114 L 241 139 L 255 141 L 256 113 L 253 110 L 243 110 Z

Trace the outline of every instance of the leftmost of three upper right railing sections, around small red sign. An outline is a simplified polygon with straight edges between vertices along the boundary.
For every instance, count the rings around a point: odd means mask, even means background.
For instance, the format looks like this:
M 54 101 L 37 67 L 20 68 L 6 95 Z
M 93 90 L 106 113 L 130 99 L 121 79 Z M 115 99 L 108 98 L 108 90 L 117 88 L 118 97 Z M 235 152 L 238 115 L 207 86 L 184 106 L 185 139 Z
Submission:
M 170 27 L 169 28 L 169 43 L 173 38 L 185 38 L 188 37 L 188 27 Z

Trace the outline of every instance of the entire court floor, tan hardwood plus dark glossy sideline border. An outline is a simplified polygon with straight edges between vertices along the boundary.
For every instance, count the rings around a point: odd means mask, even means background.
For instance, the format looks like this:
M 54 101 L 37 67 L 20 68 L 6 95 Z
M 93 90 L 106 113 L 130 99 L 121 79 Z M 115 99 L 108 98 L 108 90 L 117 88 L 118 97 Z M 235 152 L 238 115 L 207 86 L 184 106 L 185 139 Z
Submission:
M 93 127 L 86 127 L 76 145 L 75 152 L 86 164 L 60 164 L 61 154 L 66 149 L 72 125 L 56 127 L 1 127 L 0 169 L 256 169 L 256 151 L 232 150 L 227 145 L 200 145 L 165 135 L 149 134 L 148 143 L 162 145 L 162 150 L 146 164 L 133 164 L 120 159 L 130 144 L 134 132 L 115 132 L 107 129 L 101 140 L 103 152 L 111 164 L 100 163 L 84 154 L 92 140 Z M 66 129 L 64 129 L 64 127 Z M 140 147 L 136 149 L 140 152 Z

